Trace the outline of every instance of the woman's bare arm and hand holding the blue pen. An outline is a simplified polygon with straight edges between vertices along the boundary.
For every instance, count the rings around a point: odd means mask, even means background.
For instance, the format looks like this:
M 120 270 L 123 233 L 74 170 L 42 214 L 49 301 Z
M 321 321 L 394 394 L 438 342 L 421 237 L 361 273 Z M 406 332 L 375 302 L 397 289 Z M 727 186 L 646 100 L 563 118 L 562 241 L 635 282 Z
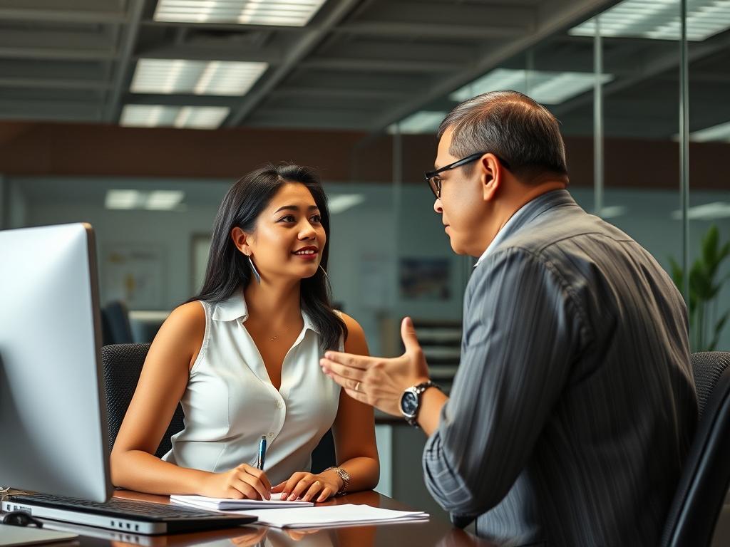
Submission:
M 205 311 L 197 302 L 172 311 L 160 327 L 112 449 L 115 486 L 152 494 L 269 497 L 266 475 L 249 465 L 210 473 L 180 468 L 154 455 L 183 397 L 204 333 Z

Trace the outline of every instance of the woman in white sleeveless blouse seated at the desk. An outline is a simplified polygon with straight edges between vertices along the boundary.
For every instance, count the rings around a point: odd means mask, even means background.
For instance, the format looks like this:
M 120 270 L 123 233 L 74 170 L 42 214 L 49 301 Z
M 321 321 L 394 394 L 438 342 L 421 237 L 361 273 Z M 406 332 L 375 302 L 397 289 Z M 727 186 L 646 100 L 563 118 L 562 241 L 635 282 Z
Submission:
M 360 325 L 329 302 L 328 236 L 326 196 L 307 168 L 268 166 L 228 190 L 203 288 L 172 311 L 147 354 L 112 450 L 116 486 L 323 501 L 377 484 L 372 408 L 319 366 L 326 349 L 367 354 Z M 158 459 L 178 401 L 185 429 Z M 314 475 L 310 454 L 330 427 L 339 467 Z

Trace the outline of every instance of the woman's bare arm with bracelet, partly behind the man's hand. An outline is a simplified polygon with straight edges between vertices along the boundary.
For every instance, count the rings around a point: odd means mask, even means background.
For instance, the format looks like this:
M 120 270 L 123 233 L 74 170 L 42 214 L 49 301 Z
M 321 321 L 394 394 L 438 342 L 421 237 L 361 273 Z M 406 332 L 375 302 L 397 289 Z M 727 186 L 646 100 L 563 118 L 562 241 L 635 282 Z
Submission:
M 352 317 L 342 314 L 347 325 L 345 351 L 367 355 L 367 343 L 362 327 Z M 350 475 L 347 492 L 372 489 L 380 478 L 380 461 L 375 444 L 375 421 L 371 406 L 364 405 L 345 393 L 339 395 L 339 408 L 332 427 L 339 467 Z M 342 478 L 334 471 L 294 473 L 288 481 L 277 484 L 272 492 L 288 494 L 290 500 L 324 501 L 342 488 Z

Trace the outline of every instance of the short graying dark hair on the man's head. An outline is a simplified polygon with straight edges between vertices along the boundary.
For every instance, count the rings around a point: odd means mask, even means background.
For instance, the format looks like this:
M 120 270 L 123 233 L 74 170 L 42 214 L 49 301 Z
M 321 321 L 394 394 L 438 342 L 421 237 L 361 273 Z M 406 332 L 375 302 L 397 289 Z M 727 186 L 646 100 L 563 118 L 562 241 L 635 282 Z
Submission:
M 518 91 L 492 91 L 456 105 L 439 125 L 439 139 L 447 128 L 453 129 L 449 153 L 456 158 L 491 152 L 524 179 L 546 171 L 568 174 L 558 120 Z

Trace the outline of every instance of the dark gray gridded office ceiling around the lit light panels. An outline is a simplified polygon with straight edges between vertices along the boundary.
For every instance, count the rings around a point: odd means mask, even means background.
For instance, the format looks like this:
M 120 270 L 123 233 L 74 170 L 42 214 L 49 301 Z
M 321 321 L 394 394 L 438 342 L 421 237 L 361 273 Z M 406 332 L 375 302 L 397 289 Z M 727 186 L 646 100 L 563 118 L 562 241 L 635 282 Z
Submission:
M 224 128 L 380 131 L 448 109 L 497 66 L 592 71 L 593 40 L 566 29 L 615 3 L 326 0 L 298 27 L 155 20 L 158 0 L 0 0 L 0 120 L 116 124 L 127 105 L 212 106 Z M 697 128 L 730 120 L 729 44 L 725 31 L 691 45 Z M 242 96 L 132 92 L 140 59 L 266 65 Z M 608 135 L 677 132 L 678 60 L 677 42 L 604 40 Z M 567 133 L 592 131 L 592 97 L 550 106 Z

